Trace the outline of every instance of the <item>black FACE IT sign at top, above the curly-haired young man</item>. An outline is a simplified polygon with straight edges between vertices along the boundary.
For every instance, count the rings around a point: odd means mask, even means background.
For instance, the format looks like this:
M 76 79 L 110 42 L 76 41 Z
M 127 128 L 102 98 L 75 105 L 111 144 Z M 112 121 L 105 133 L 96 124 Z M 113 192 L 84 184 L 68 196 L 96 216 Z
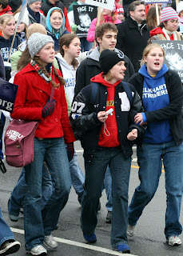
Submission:
M 97 7 L 89 5 L 74 5 L 74 21 L 77 25 L 76 34 L 86 37 L 93 18 L 97 17 Z

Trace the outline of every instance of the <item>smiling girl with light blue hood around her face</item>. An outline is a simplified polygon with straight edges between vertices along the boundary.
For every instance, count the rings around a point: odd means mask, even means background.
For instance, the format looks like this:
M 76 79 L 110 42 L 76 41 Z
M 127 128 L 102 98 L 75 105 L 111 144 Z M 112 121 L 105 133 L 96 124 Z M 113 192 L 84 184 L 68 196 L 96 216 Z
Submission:
M 70 34 L 65 27 L 65 16 L 62 10 L 58 7 L 53 7 L 49 10 L 46 16 L 46 30 L 48 35 L 54 39 L 54 50 L 59 50 L 59 39 L 64 34 Z

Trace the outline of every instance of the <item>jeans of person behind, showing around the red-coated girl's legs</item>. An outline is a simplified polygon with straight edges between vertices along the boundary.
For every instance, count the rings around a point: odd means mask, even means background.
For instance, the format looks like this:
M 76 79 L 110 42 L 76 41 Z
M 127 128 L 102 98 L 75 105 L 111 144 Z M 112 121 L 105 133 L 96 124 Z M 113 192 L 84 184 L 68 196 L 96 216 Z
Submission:
M 40 202 L 41 209 L 44 208 L 46 202 L 50 198 L 52 193 L 52 181 L 49 170 L 45 164 L 42 166 L 42 200 Z M 24 203 L 24 198 L 26 195 L 26 178 L 25 178 L 25 169 L 23 168 L 22 173 L 18 179 L 14 190 L 11 192 L 11 196 L 8 202 L 8 211 L 10 214 L 18 216 L 20 213 L 20 208 Z

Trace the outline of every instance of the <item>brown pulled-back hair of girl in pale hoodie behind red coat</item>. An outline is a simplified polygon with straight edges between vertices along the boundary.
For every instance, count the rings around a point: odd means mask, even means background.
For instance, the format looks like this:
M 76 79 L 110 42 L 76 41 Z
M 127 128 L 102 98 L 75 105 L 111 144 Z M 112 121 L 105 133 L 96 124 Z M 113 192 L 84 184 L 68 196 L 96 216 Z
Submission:
M 70 43 L 73 41 L 74 38 L 78 38 L 76 34 L 64 34 L 59 40 L 59 48 L 60 48 L 60 54 L 62 57 L 64 57 L 64 50 L 63 46 L 66 46 L 67 48 L 70 47 Z M 72 65 L 74 66 L 74 69 L 76 69 L 79 65 L 78 60 L 74 58 Z

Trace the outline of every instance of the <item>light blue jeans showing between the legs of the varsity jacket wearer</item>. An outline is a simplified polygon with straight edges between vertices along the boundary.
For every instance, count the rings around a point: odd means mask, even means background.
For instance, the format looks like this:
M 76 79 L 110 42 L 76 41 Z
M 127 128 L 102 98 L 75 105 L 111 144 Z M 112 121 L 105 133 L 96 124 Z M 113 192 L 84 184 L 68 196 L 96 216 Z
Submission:
M 107 208 L 108 211 L 113 211 L 112 176 L 110 173 L 109 166 L 107 166 L 107 170 L 105 172 L 104 186 L 105 186 L 105 192 L 107 196 L 107 202 L 105 204 L 105 207 Z

